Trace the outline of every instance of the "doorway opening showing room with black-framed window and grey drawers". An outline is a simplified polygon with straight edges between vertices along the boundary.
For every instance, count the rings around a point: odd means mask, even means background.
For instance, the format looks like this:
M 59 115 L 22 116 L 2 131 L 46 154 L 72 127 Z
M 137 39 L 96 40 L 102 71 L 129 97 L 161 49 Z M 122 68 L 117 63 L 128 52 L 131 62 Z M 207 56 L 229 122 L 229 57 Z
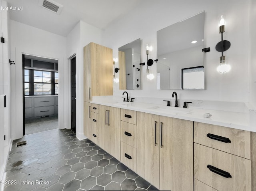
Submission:
M 58 60 L 22 54 L 23 135 L 58 128 Z

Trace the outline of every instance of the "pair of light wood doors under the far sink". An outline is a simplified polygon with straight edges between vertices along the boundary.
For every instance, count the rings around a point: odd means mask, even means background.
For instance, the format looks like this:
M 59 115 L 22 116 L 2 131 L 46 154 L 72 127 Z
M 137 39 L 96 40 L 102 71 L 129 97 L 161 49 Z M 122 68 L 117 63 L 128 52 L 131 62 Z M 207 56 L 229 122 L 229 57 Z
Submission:
M 120 108 L 100 105 L 99 146 L 120 160 Z

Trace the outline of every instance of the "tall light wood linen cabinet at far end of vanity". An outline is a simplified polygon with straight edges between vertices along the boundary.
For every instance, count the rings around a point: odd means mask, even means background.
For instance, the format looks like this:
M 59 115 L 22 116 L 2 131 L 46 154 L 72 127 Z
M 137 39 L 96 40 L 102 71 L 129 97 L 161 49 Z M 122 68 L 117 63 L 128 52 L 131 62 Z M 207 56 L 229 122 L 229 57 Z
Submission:
M 84 47 L 84 135 L 90 140 L 95 139 L 95 136 L 99 138 L 99 125 L 90 128 L 93 120 L 90 103 L 92 96 L 112 95 L 112 49 L 91 42 Z

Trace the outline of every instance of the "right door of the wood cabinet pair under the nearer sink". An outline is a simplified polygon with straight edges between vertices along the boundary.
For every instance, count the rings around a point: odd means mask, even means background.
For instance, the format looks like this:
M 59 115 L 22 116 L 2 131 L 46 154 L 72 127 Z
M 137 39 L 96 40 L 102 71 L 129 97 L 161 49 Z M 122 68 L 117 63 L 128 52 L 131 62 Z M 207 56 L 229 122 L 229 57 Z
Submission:
M 193 122 L 160 116 L 160 190 L 193 191 Z

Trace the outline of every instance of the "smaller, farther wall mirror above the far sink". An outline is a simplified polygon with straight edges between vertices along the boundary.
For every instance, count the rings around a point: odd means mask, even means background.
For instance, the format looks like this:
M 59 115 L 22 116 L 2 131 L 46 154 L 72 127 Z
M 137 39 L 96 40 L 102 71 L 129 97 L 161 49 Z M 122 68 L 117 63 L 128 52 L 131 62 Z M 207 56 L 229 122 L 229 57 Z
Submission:
M 118 48 L 119 89 L 141 90 L 140 38 Z

